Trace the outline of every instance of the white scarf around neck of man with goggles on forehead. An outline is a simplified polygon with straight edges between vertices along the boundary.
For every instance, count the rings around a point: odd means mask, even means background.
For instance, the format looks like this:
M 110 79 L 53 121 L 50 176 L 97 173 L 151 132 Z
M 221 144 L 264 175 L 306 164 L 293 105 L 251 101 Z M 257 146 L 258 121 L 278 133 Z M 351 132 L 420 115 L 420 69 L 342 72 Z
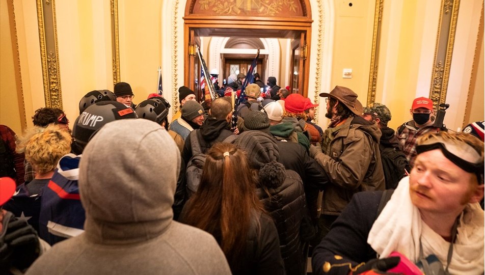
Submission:
M 483 219 L 483 210 L 478 203 L 468 204 L 462 212 L 449 265 L 451 274 L 483 272 Z M 396 251 L 416 263 L 419 261 L 420 239 L 424 257 L 435 254 L 446 267 L 450 243 L 423 223 L 409 195 L 409 177 L 405 177 L 372 225 L 367 242 L 380 258 Z

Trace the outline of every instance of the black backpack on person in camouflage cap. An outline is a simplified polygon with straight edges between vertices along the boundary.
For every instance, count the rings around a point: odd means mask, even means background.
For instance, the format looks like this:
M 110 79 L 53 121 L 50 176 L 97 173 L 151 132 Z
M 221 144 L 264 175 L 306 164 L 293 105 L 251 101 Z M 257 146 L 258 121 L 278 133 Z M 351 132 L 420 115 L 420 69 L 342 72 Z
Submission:
M 386 189 L 395 189 L 399 180 L 409 173 L 410 167 L 406 154 L 398 147 L 384 147 L 379 145 L 381 151 L 382 169 L 386 180 Z

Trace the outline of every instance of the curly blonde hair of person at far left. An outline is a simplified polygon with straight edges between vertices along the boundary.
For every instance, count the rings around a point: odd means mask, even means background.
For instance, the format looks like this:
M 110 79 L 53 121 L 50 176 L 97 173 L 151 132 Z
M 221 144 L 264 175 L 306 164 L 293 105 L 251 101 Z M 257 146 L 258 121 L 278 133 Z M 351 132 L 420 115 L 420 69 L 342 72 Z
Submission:
M 25 159 L 36 173 L 45 174 L 54 170 L 59 159 L 71 151 L 71 136 L 59 127 L 49 126 L 31 135 L 24 145 Z

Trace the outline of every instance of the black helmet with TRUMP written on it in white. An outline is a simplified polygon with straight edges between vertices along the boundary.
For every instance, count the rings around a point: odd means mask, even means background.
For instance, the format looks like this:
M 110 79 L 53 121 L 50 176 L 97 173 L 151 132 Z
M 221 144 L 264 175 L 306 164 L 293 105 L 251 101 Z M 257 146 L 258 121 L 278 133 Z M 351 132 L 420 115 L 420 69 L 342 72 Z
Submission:
M 100 101 L 87 107 L 80 114 L 72 127 L 74 137 L 73 150 L 76 154 L 83 152 L 91 137 L 104 124 L 119 119 L 137 118 L 132 108 L 117 101 Z

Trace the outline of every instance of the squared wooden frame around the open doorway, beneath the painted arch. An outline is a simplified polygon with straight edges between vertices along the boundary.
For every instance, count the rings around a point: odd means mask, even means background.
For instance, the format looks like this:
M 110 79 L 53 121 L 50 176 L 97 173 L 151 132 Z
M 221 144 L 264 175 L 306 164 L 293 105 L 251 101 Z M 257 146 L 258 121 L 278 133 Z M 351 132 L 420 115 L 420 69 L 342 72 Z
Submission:
M 224 17 L 224 16 L 223 16 Z M 248 20 L 238 19 L 234 16 L 226 16 L 224 19 L 213 19 L 213 16 L 185 16 L 184 19 L 184 85 L 190 85 L 188 68 L 189 62 L 189 43 L 190 43 L 190 31 L 192 29 L 249 29 L 259 32 L 264 30 L 282 30 L 282 31 L 300 31 L 305 33 L 306 37 L 306 52 L 305 56 L 310 57 L 310 45 L 311 45 L 311 23 L 312 20 L 303 18 L 291 18 L 291 20 L 278 20 L 267 19 L 262 20 L 258 17 L 244 17 Z M 264 35 L 262 35 L 264 36 Z M 310 62 L 304 64 L 304 76 L 308 76 L 310 73 Z M 303 81 L 303 95 L 308 96 L 309 78 L 304 77 Z M 190 86 L 189 86 L 190 87 Z

